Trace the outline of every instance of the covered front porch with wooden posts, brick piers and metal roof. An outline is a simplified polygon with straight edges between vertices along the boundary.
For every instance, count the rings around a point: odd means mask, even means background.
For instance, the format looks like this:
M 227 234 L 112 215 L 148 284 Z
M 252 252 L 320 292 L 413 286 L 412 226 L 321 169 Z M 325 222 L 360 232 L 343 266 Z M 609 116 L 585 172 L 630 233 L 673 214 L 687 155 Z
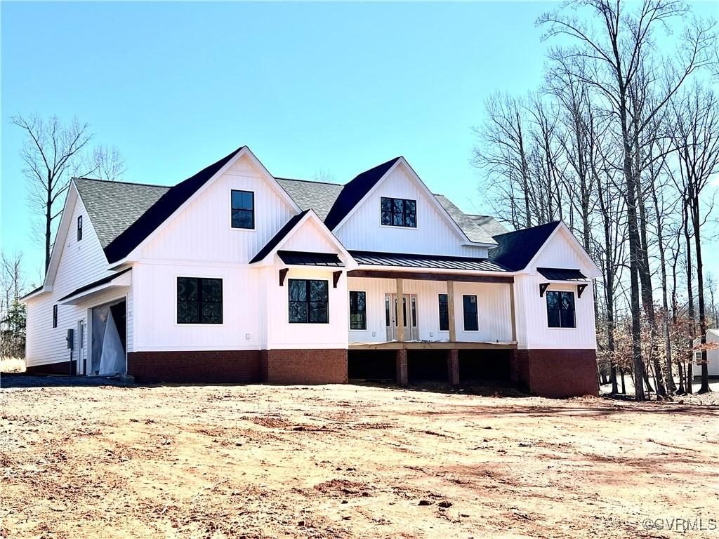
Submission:
M 349 378 L 459 384 L 464 374 L 509 382 L 517 348 L 514 277 L 485 259 L 430 258 L 452 267 L 368 268 L 359 257 L 359 269 L 347 273 Z M 472 267 L 456 267 L 460 260 Z M 353 310 L 353 298 L 364 305 Z

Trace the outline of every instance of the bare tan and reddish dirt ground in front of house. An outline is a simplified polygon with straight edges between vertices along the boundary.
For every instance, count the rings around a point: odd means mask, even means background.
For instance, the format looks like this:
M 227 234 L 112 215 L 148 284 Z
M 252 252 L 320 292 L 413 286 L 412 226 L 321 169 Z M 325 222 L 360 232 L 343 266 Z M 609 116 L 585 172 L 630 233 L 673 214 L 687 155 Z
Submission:
M 249 385 L 0 399 L 5 537 L 657 538 L 683 520 L 691 537 L 719 533 L 719 407 L 696 397 Z

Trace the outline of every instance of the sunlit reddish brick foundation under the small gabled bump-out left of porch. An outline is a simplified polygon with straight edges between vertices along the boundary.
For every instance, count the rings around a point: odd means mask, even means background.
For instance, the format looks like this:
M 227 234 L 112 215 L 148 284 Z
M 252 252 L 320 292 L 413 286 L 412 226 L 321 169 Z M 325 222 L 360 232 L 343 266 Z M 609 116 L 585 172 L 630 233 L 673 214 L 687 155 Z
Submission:
M 346 349 L 264 350 L 262 382 L 269 384 L 346 384 Z

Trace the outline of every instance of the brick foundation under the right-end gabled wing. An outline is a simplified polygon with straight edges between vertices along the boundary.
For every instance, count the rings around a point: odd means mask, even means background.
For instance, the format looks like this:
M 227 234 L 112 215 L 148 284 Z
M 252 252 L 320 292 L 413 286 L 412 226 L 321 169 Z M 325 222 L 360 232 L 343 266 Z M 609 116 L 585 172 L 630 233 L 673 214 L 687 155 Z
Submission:
M 563 398 L 599 394 L 593 349 L 516 350 L 511 363 L 512 382 L 532 395 Z

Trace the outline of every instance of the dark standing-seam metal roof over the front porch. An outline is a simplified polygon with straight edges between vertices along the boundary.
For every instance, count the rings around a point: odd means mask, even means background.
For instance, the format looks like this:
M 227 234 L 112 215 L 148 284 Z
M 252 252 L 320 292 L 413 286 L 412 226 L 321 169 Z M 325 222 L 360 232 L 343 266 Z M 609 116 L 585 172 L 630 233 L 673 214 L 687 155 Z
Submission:
M 360 266 L 417 267 L 433 270 L 470 270 L 478 272 L 508 272 L 486 258 L 446 257 L 438 254 L 406 254 L 372 251 L 349 251 Z

